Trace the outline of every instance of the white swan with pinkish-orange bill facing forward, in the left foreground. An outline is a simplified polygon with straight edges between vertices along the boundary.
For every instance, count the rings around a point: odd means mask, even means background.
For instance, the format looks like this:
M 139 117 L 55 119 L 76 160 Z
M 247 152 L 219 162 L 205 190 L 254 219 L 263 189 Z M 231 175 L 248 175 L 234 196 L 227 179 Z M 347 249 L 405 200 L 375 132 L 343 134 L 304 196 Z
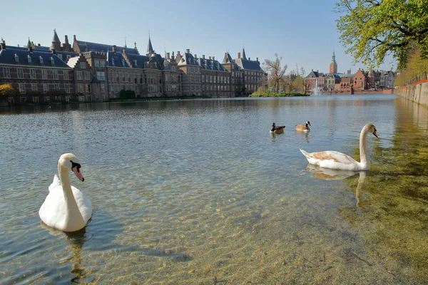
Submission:
M 84 181 L 81 165 L 72 153 L 58 160 L 58 175 L 49 186 L 49 195 L 39 209 L 40 219 L 49 227 L 63 232 L 76 232 L 86 226 L 92 216 L 92 203 L 76 187 L 70 185 L 68 170 Z

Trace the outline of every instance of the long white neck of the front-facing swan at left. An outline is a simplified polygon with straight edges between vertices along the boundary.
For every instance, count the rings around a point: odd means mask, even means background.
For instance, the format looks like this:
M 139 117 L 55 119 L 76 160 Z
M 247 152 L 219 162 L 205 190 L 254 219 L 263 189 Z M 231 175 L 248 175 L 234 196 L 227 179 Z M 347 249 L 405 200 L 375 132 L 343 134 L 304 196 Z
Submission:
M 61 181 L 61 187 L 63 189 L 64 200 L 66 202 L 66 217 L 64 225 L 66 225 L 66 228 L 69 229 L 70 232 L 73 230 L 77 230 L 74 229 L 75 227 L 81 229 L 82 227 L 84 227 L 85 222 L 83 221 L 82 214 L 78 209 L 76 199 L 74 199 L 73 190 L 71 190 L 70 178 L 68 177 L 68 169 L 58 163 L 58 174 L 59 180 Z

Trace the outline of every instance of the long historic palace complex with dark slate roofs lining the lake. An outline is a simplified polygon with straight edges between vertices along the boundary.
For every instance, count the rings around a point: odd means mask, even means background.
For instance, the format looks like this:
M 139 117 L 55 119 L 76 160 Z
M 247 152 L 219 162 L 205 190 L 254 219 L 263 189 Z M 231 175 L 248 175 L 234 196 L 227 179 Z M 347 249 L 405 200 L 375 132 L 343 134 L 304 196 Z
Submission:
M 258 58 L 247 58 L 244 49 L 235 59 L 226 53 L 222 63 L 214 56 L 198 58 L 189 49 L 177 56 L 165 52 L 163 57 L 154 51 L 150 36 L 146 55 L 136 43 L 129 48 L 126 41 L 116 46 L 73 36 L 69 43 L 65 36 L 61 43 L 55 30 L 50 47 L 31 41 L 25 48 L 6 46 L 2 39 L 0 49 L 0 84 L 11 84 L 21 94 L 9 98 L 11 103 L 104 101 L 125 90 L 136 97 L 226 98 L 253 93 L 266 76 Z

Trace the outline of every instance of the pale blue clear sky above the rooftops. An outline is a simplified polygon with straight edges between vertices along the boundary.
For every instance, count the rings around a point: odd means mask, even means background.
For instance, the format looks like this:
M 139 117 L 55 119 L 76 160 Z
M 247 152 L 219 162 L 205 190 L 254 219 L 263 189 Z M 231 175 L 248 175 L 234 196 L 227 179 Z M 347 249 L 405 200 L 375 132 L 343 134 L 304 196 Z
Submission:
M 189 48 L 198 56 L 223 60 L 225 51 L 233 58 L 243 50 L 247 58 L 274 59 L 275 53 L 287 64 L 287 73 L 296 63 L 305 68 L 328 73 L 332 51 L 339 72 L 365 68 L 353 65 L 339 41 L 333 9 L 335 0 L 306 1 L 15 1 L 1 5 L 0 36 L 6 45 L 34 43 L 51 46 L 54 28 L 63 43 L 64 35 L 73 41 L 128 46 L 137 43 L 146 53 L 150 31 L 157 53 Z M 379 69 L 395 70 L 392 58 Z

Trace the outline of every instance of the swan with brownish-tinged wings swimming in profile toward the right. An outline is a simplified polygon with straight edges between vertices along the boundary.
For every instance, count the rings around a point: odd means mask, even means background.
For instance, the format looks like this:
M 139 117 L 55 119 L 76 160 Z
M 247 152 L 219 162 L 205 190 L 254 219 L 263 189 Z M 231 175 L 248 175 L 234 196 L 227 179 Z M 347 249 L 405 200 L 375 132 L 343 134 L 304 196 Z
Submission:
M 367 133 L 372 133 L 376 138 L 376 128 L 372 124 L 367 124 L 362 128 L 360 134 L 360 158 L 361 162 L 353 159 L 349 155 L 345 155 L 336 151 L 323 151 L 308 153 L 305 150 L 300 150 L 305 155 L 307 161 L 312 165 L 320 167 L 332 168 L 336 170 L 369 170 L 370 165 L 367 161 L 366 141 Z

